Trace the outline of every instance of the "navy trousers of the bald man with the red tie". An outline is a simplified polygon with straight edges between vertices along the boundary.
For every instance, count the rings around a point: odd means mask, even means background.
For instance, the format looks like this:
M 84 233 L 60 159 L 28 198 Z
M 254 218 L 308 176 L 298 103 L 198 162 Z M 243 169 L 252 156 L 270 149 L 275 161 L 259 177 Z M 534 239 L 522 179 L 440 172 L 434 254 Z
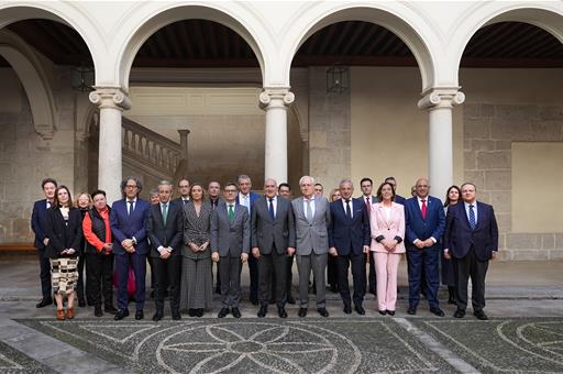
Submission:
M 431 309 L 440 308 L 438 288 L 440 287 L 440 245 L 419 250 L 409 246 L 407 250 L 409 274 L 409 306 L 417 307 L 420 301 L 420 289 L 427 290 L 428 305 Z

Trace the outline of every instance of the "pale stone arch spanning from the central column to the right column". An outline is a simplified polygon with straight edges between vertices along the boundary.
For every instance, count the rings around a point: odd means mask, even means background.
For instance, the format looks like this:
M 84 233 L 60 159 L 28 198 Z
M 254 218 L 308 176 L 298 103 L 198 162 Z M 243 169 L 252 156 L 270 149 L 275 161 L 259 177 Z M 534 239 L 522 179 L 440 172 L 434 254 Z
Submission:
M 301 20 L 297 19 L 292 22 L 294 25 L 300 26 L 297 34 L 291 34 L 290 45 L 285 53 L 289 56 L 286 62 L 285 75 L 289 81 L 289 74 L 291 62 L 297 51 L 312 34 L 322 28 L 341 22 L 341 21 L 364 21 L 382 25 L 398 37 L 409 47 L 415 58 L 417 59 L 421 81 L 422 91 L 432 87 L 434 82 L 434 67 L 435 59 L 432 54 L 431 45 L 437 44 L 434 35 L 426 31 L 430 28 L 424 26 L 424 21 L 421 14 L 416 14 L 411 7 L 406 7 L 401 3 L 374 3 L 374 4 L 354 4 L 354 3 L 332 3 L 332 8 L 324 11 L 316 9 L 312 14 L 314 18 L 306 20 L 309 16 L 307 12 Z M 400 9 L 399 9 L 400 8 Z M 417 15 L 417 16 L 415 16 Z M 420 24 L 422 22 L 422 24 Z

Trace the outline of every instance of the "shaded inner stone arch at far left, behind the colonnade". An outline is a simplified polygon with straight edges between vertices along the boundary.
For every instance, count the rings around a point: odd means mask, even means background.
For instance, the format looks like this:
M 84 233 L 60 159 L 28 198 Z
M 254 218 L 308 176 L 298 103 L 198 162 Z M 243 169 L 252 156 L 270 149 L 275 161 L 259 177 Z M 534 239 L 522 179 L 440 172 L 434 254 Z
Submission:
M 15 34 L 0 31 L 0 55 L 10 63 L 27 95 L 35 131 L 51 140 L 56 131 L 56 105 L 49 79 L 35 52 Z

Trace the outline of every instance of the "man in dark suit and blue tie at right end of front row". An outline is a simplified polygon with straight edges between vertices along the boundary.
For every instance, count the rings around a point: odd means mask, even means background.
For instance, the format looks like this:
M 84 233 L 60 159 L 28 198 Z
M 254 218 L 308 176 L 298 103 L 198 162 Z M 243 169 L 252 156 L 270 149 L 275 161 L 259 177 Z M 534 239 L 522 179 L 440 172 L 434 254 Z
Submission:
M 444 233 L 444 255 L 452 258 L 454 267 L 456 305 L 455 318 L 465 316 L 467 282 L 471 277 L 473 314 L 481 320 L 488 319 L 485 308 L 485 276 L 488 262 L 498 252 L 498 227 L 493 207 L 477 201 L 476 187 L 462 185 L 463 204 L 448 208 Z

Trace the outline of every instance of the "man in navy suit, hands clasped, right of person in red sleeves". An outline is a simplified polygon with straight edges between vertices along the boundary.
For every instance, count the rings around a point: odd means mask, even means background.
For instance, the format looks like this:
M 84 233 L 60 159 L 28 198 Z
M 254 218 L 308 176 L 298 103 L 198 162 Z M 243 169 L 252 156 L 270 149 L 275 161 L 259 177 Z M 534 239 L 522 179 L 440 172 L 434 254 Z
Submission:
M 110 226 L 113 234 L 113 254 L 118 271 L 118 314 L 115 320 L 129 316 L 128 276 L 130 266 L 135 274 L 135 319 L 143 319 L 145 304 L 145 274 L 148 243 L 146 240 L 146 216 L 148 202 L 139 198 L 142 189 L 141 180 L 128 177 L 121 183 L 123 199 L 113 202 L 110 213 Z

